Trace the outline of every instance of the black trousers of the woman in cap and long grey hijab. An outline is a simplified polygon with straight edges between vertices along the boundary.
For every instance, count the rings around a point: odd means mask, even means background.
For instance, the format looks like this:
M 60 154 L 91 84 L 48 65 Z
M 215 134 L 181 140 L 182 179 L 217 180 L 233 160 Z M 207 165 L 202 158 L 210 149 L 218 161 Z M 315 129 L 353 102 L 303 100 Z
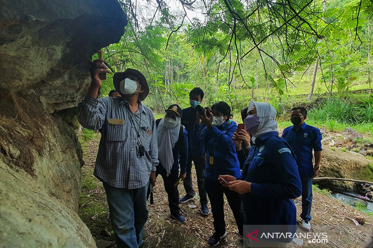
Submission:
M 156 177 L 159 174 L 163 178 L 164 190 L 166 190 L 168 196 L 168 206 L 170 207 L 170 213 L 172 215 L 177 215 L 178 213 L 180 213 L 181 209 L 179 207 L 179 190 L 177 186 L 174 186 L 174 184 L 176 180 L 178 180 L 179 171 L 171 170 L 169 176 L 167 177 L 166 170 L 164 170 L 163 167 L 159 167 L 156 172 Z

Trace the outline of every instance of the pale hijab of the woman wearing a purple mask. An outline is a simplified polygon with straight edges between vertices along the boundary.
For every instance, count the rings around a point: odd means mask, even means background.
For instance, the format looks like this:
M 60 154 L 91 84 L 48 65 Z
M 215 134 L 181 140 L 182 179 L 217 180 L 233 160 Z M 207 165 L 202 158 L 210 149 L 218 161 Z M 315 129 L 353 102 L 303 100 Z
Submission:
M 268 132 L 277 131 L 277 122 L 275 121 L 276 110 L 271 104 L 251 101 L 247 112 L 249 112 L 254 106 L 260 121 L 258 130 L 253 133 L 253 142 L 255 143 L 255 138 Z

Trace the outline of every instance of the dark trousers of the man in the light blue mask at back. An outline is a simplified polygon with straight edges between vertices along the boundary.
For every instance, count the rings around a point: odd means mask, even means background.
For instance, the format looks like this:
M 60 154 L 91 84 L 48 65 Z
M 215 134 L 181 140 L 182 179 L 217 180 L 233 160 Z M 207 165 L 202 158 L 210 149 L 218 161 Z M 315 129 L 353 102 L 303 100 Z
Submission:
M 205 160 L 204 156 L 195 156 L 188 159 L 186 165 L 186 177 L 183 180 L 184 189 L 187 195 L 195 196 L 192 182 L 192 160 L 194 162 L 195 173 L 197 175 L 198 194 L 200 195 L 200 203 L 207 204 L 207 193 L 205 186 Z

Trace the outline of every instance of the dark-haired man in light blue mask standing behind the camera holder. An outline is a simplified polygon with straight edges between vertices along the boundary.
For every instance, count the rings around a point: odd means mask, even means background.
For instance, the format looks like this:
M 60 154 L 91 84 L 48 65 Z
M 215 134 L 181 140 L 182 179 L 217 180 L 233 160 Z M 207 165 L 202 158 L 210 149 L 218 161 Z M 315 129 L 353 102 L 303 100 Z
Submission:
M 197 112 L 195 107 L 198 106 L 204 97 L 204 92 L 201 88 L 195 87 L 189 93 L 190 107 L 183 109 L 181 124 L 185 126 L 188 131 L 189 154 L 188 165 L 186 166 L 186 177 L 184 179 L 184 189 L 186 195 L 180 199 L 181 203 L 188 202 L 195 198 L 195 191 L 192 183 L 192 161 L 194 162 L 195 172 L 197 174 L 198 194 L 200 195 L 201 213 L 203 215 L 209 214 L 207 207 L 207 193 L 204 185 L 205 181 L 205 149 L 203 146 L 192 145 L 190 137 L 194 132 L 200 133 L 205 125 L 200 124 L 201 120 L 197 119 Z

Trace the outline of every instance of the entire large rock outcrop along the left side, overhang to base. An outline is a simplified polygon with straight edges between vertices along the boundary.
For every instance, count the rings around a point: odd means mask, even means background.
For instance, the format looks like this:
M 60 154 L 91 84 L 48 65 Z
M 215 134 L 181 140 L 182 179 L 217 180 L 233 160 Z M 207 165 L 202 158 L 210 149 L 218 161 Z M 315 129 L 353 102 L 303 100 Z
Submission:
M 126 17 L 116 0 L 0 6 L 0 247 L 95 247 L 76 213 L 82 154 L 66 117 Z

